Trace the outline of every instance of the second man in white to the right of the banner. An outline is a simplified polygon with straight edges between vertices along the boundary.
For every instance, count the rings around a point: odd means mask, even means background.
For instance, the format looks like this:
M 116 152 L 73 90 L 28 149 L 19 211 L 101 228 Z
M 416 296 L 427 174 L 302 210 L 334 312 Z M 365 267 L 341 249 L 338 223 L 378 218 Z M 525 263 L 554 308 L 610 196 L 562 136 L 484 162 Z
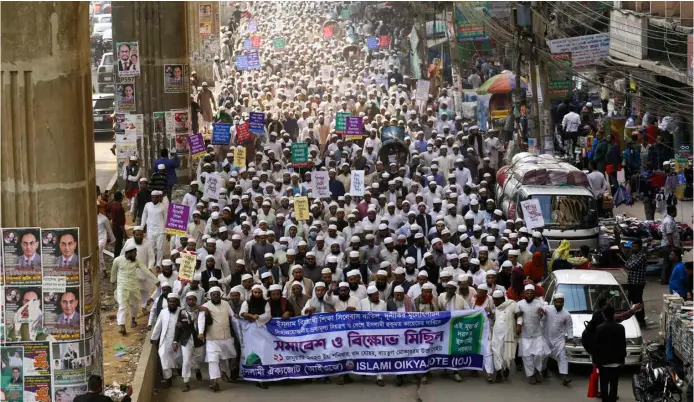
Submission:
M 549 348 L 542 336 L 542 325 L 546 318 L 543 304 L 535 298 L 535 286 L 525 285 L 525 299 L 518 302 L 516 334 L 520 335 L 518 356 L 523 358 L 525 376 L 530 384 L 542 382 L 542 361 Z

